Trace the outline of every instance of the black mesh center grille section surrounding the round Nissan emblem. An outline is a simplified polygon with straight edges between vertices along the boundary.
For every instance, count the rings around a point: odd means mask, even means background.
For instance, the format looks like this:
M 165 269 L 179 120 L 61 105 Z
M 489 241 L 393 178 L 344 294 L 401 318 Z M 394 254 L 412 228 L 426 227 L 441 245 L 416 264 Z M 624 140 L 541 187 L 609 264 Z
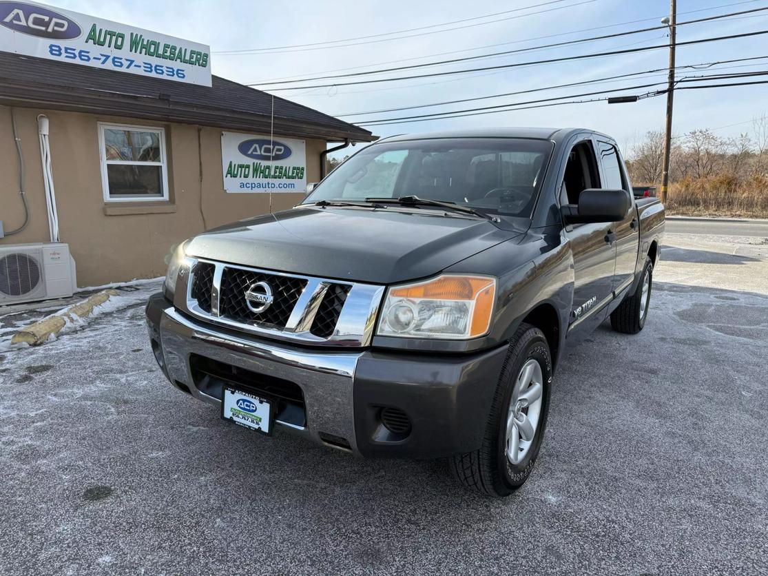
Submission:
M 273 304 L 260 313 L 250 310 L 245 300 L 245 293 L 257 282 L 269 284 L 274 296 Z M 275 276 L 225 266 L 221 274 L 219 314 L 235 322 L 259 323 L 283 329 L 305 287 L 306 279 L 303 278 Z

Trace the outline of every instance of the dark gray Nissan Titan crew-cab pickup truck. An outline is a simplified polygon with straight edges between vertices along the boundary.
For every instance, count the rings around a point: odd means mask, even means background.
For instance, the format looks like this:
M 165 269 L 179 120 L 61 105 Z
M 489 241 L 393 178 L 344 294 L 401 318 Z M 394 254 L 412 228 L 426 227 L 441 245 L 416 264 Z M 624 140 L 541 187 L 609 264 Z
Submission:
M 224 419 L 368 457 L 531 474 L 564 348 L 646 322 L 664 207 L 586 129 L 386 138 L 291 210 L 178 247 L 147 303 L 170 383 Z

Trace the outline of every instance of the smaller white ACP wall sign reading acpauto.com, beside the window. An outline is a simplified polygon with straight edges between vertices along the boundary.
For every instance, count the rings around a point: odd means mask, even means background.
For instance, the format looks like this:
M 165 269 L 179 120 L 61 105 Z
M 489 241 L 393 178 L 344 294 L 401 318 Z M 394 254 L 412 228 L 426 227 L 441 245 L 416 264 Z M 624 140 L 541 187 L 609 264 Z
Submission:
M 258 134 L 221 134 L 224 190 L 304 192 L 306 142 Z

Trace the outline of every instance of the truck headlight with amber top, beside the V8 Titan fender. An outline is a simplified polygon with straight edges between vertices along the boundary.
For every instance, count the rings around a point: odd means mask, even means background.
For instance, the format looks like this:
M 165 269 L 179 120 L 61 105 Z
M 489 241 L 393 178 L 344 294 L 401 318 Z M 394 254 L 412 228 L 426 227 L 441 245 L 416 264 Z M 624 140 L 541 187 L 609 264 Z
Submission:
M 491 325 L 496 280 L 488 276 L 444 274 L 387 290 L 380 336 L 469 339 Z

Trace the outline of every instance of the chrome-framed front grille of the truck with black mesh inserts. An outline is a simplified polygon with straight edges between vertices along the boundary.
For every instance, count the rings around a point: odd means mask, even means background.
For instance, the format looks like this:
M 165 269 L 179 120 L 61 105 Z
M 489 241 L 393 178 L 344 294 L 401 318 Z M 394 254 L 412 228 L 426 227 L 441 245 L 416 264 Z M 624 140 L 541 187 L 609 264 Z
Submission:
M 270 306 L 255 312 L 253 293 L 266 283 Z M 251 306 L 248 306 L 246 292 Z M 367 346 L 384 286 L 328 280 L 187 257 L 181 267 L 174 306 L 243 332 L 306 345 Z

